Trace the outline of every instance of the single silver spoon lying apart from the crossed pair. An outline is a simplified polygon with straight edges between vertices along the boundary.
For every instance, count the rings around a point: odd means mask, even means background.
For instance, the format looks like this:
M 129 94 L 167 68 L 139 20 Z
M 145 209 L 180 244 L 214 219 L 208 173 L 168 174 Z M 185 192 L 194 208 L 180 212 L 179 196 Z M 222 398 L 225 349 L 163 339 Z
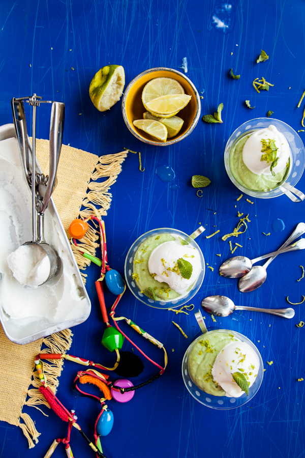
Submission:
M 293 308 L 257 308 L 243 305 L 235 305 L 234 302 L 226 296 L 209 296 L 201 301 L 202 308 L 208 313 L 217 317 L 228 317 L 234 310 L 252 310 L 271 313 L 283 318 L 293 318 Z

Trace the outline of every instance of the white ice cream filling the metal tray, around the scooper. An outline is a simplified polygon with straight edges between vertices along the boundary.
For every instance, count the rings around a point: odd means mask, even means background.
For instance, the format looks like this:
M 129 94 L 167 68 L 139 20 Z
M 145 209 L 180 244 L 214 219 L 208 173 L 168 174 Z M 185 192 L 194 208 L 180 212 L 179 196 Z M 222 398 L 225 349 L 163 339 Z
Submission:
M 33 329 L 45 329 L 77 320 L 84 316 L 88 303 L 76 267 L 71 260 L 54 210 L 49 205 L 45 212 L 45 239 L 58 253 L 63 264 L 62 273 L 41 285 L 31 288 L 20 284 L 12 274 L 8 256 L 24 242 L 32 239 L 31 193 L 23 177 L 15 138 L 0 141 L 0 314 L 4 321 L 14 320 L 19 327 L 34 323 Z M 17 250 L 18 251 L 18 250 Z M 26 271 L 31 261 L 15 251 L 9 262 L 23 263 L 16 271 Z M 22 253 L 21 253 L 22 254 Z M 23 253 L 25 254 L 25 253 Z M 45 261 L 43 261 L 44 264 Z M 46 275 L 47 267 L 39 268 Z M 23 270 L 23 268 L 25 269 Z M 13 270 L 14 267 L 13 267 Z M 32 283 L 40 281 L 35 272 Z M 38 272 L 37 272 L 38 273 Z M 35 280 L 36 277 L 36 280 Z M 35 323 L 38 323 L 36 326 Z M 55 329 L 55 328 L 54 328 Z M 33 331 L 33 332 L 34 332 Z

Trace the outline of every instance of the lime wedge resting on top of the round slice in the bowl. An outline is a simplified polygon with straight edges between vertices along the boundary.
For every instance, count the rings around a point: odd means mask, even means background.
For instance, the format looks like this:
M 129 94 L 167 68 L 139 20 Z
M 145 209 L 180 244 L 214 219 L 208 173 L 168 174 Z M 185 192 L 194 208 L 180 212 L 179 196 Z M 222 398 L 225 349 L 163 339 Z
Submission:
M 191 100 L 191 96 L 187 94 L 168 94 L 150 100 L 144 106 L 147 111 L 158 113 L 158 115 L 174 116 L 177 111 L 181 110 Z

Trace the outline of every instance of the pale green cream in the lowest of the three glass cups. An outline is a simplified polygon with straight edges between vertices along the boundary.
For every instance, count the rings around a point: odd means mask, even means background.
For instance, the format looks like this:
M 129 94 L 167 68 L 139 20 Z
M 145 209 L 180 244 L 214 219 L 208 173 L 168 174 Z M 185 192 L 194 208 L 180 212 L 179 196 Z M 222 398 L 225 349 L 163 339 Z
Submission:
M 233 334 L 222 331 L 212 331 L 203 334 L 192 348 L 188 358 L 188 370 L 191 379 L 203 391 L 214 396 L 225 396 L 225 391 L 214 382 L 211 375 L 212 366 L 217 355 L 232 341 L 238 339 Z

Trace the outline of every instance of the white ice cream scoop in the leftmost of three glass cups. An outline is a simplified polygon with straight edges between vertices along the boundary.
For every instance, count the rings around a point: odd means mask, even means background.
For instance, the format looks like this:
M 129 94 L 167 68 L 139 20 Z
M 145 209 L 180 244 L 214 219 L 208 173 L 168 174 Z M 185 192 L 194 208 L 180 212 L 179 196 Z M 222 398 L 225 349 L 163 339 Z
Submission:
M 178 268 L 178 259 L 183 259 L 192 264 L 193 271 L 189 279 L 182 277 Z M 155 248 L 148 260 L 150 274 L 155 274 L 154 279 L 166 282 L 172 290 L 184 294 L 197 280 L 202 266 L 198 250 L 191 245 L 181 245 L 179 240 L 161 243 Z

